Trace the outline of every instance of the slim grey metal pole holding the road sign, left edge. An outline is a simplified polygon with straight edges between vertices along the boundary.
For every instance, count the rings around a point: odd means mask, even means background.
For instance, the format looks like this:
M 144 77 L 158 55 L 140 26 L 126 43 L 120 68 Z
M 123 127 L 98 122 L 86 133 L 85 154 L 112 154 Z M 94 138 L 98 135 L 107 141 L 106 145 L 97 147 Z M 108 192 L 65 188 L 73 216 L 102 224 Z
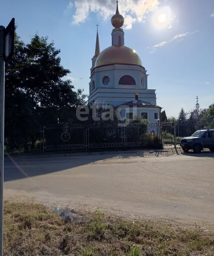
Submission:
M 3 256 L 4 184 L 4 26 L 0 26 L 0 256 Z

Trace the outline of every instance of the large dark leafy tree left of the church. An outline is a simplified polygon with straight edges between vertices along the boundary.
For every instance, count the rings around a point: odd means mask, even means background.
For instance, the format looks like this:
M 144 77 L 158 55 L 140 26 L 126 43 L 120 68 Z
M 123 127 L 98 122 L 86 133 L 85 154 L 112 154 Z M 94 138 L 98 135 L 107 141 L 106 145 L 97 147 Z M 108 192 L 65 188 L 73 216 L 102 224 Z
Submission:
M 22 137 L 27 150 L 40 126 L 74 117 L 76 107 L 85 103 L 82 90 L 75 92 L 64 79 L 70 71 L 60 64 L 59 53 L 48 37 L 35 34 L 25 44 L 16 35 L 5 74 L 5 138 L 10 148 Z

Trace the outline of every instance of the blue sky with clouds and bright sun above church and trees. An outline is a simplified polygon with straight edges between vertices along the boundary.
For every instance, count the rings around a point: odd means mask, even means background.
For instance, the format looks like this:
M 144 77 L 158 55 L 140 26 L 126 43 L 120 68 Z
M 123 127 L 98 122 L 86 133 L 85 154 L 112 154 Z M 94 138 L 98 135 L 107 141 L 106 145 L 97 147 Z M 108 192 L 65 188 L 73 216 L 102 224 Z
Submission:
M 111 45 L 116 1 L 2 0 L 0 9 L 0 25 L 14 17 L 24 41 L 35 32 L 53 40 L 75 88 L 88 94 L 95 25 L 103 50 Z M 201 108 L 214 103 L 214 0 L 119 0 L 119 11 L 125 45 L 139 54 L 167 116 L 194 108 L 197 95 Z

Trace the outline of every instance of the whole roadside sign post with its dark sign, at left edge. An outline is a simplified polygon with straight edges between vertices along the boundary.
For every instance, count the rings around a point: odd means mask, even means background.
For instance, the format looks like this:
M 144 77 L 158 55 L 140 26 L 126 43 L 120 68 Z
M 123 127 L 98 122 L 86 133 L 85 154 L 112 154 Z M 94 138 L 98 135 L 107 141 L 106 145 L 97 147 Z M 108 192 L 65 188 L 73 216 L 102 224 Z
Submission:
M 3 256 L 3 185 L 4 185 L 4 61 L 13 55 L 15 19 L 7 28 L 0 26 L 0 256 Z

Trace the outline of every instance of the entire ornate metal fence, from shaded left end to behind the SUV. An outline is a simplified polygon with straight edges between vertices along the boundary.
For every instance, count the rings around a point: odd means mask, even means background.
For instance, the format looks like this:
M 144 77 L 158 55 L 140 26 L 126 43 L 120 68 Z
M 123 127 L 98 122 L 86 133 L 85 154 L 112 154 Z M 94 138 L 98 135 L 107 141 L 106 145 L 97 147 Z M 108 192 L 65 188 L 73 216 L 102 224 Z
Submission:
M 121 125 L 121 124 L 120 124 Z M 93 148 L 132 148 L 178 145 L 182 137 L 198 129 L 208 128 L 202 121 L 171 123 L 95 123 L 89 127 L 81 124 L 55 124 L 43 127 L 31 139 L 31 151 L 88 150 Z

